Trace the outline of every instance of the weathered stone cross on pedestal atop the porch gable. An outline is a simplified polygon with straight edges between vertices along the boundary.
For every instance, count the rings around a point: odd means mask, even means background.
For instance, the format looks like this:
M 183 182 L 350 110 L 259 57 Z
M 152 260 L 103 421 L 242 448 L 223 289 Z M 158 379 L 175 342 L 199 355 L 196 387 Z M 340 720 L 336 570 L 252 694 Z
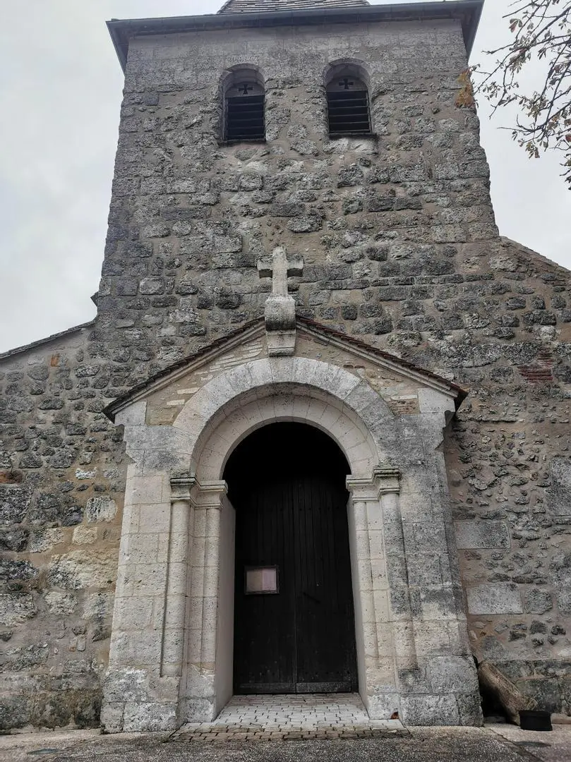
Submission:
M 295 302 L 287 293 L 287 278 L 303 273 L 303 258 L 288 258 L 284 246 L 277 246 L 271 258 L 258 261 L 261 278 L 271 278 L 271 295 L 265 303 L 265 327 L 269 354 L 294 354 Z

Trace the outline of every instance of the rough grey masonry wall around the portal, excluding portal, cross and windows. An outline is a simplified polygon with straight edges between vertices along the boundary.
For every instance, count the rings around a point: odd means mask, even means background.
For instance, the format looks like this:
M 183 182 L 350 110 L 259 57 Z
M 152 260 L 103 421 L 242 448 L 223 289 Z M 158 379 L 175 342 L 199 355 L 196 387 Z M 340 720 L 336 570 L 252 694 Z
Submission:
M 327 136 L 340 59 L 376 138 Z M 226 146 L 246 64 L 267 142 Z M 300 315 L 470 392 L 446 455 L 473 649 L 569 712 L 571 277 L 499 239 L 465 66 L 452 21 L 133 40 L 95 327 L 0 360 L 5 727 L 97 722 L 125 468 L 101 410 L 260 316 L 277 244 L 305 261 Z

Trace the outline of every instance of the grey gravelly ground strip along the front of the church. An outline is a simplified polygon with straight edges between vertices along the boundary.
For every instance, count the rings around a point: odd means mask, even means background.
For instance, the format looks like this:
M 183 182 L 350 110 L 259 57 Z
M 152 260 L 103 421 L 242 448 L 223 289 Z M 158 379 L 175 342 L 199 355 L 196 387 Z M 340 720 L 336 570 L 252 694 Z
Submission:
M 164 733 L 41 732 L 0 737 L 0 762 L 571 762 L 571 725 L 409 728 L 396 738 L 168 741 Z

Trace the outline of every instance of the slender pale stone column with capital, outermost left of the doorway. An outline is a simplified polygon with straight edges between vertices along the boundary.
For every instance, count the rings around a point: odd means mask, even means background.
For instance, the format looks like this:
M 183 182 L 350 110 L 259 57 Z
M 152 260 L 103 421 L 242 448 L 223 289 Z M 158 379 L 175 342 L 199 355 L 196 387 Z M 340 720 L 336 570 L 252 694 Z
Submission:
M 171 479 L 171 527 L 162 633 L 161 677 L 180 677 L 184 658 L 184 614 L 191 543 L 193 477 Z

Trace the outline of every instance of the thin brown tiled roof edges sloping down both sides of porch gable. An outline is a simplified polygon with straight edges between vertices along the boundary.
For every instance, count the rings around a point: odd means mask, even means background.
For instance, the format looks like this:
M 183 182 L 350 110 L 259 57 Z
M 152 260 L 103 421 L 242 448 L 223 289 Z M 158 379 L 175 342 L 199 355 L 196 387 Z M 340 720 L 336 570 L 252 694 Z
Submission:
M 385 352 L 382 349 L 378 349 L 372 344 L 367 344 L 366 341 L 361 341 L 361 339 L 342 333 L 342 331 L 335 331 L 334 328 L 329 328 L 328 325 L 323 325 L 322 323 L 316 322 L 315 320 L 311 320 L 309 318 L 300 317 L 300 315 L 297 315 L 296 322 L 298 328 L 300 329 L 307 327 L 310 330 L 313 329 L 313 331 L 319 331 L 320 333 L 329 335 L 338 341 L 343 341 L 346 344 L 351 344 L 356 349 L 374 354 L 377 357 L 382 357 L 383 360 L 387 360 L 390 363 L 409 368 L 411 371 L 418 373 L 420 376 L 425 376 L 427 379 L 433 379 L 436 382 L 447 386 L 447 388 L 451 389 L 451 391 L 455 394 L 456 408 L 460 407 L 460 404 L 464 401 L 464 399 L 466 399 L 468 395 L 466 389 L 463 389 L 461 386 L 458 386 L 456 383 L 450 381 L 449 379 L 445 379 L 444 376 L 439 376 L 438 373 L 433 373 L 431 370 L 427 370 L 426 368 L 420 367 L 419 365 L 415 365 L 415 363 L 411 363 L 409 360 L 403 360 L 401 357 L 397 357 L 396 354 L 391 354 L 390 352 Z M 130 402 L 130 399 L 136 398 L 138 395 L 144 392 L 145 389 L 153 386 L 156 383 L 159 383 L 159 381 L 162 379 L 165 379 L 166 377 L 171 376 L 173 373 L 176 373 L 177 370 L 181 370 L 185 366 L 190 365 L 192 362 L 200 360 L 200 357 L 209 354 L 210 352 L 216 350 L 218 347 L 222 347 L 224 344 L 233 341 L 233 339 L 236 339 L 240 335 L 245 334 L 252 328 L 256 327 L 264 327 L 264 318 L 256 318 L 254 320 L 250 320 L 240 328 L 236 328 L 235 331 L 230 331 L 229 333 L 220 336 L 214 341 L 211 341 L 210 344 L 201 347 L 197 352 L 189 354 L 187 357 L 183 357 L 181 360 L 178 360 L 176 363 L 172 363 L 163 370 L 159 370 L 159 373 L 155 373 L 154 375 L 149 376 L 148 379 L 138 383 L 136 386 L 133 386 L 131 389 L 129 389 L 129 391 L 120 395 L 117 397 L 117 399 L 114 399 L 113 402 L 110 402 L 109 405 L 107 405 L 107 407 L 103 410 L 104 415 L 107 415 L 107 418 L 109 418 L 111 421 L 114 421 L 117 412 L 119 412 L 121 408 L 124 408 L 124 406 Z

